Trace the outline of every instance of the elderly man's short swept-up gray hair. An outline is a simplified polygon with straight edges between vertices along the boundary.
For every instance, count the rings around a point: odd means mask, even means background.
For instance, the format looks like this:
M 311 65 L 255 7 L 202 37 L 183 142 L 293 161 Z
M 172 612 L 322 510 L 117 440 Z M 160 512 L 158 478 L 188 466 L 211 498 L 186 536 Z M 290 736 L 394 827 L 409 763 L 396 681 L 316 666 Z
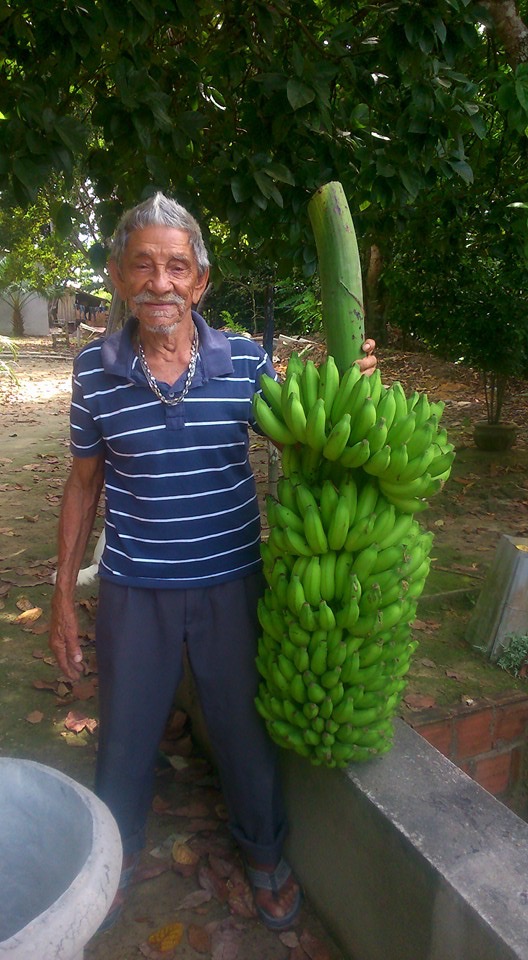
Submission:
M 194 219 L 185 207 L 171 200 L 165 194 L 158 191 L 153 197 L 138 203 L 136 207 L 127 210 L 119 221 L 114 238 L 110 256 L 116 263 L 120 264 L 128 243 L 128 238 L 134 230 L 141 230 L 143 227 L 174 227 L 177 230 L 185 230 L 189 235 L 189 242 L 196 258 L 196 265 L 200 276 L 203 276 L 209 266 L 209 257 L 202 237 L 202 231 L 198 222 Z

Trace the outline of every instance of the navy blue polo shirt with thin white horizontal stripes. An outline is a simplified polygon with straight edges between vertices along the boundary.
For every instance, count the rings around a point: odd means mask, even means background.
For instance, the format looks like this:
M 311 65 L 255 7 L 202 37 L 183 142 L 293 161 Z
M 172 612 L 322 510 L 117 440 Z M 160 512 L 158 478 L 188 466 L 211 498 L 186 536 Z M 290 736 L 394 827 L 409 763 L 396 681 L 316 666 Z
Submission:
M 74 364 L 71 451 L 105 456 L 106 546 L 100 576 L 123 585 L 189 588 L 260 567 L 260 516 L 248 425 L 260 375 L 275 376 L 253 340 L 193 313 L 200 350 L 191 389 L 167 406 L 150 390 L 132 337 L 136 320 L 89 344 Z M 171 395 L 182 391 L 184 373 Z

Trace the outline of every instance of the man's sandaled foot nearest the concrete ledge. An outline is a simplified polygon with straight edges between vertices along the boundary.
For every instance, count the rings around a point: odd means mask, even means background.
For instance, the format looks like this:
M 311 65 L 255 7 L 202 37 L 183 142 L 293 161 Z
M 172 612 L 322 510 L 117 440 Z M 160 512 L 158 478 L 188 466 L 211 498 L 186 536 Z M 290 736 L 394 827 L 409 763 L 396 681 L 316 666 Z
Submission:
M 292 869 L 281 859 L 276 867 L 246 860 L 246 873 L 260 919 L 271 930 L 287 930 L 301 908 L 302 894 Z

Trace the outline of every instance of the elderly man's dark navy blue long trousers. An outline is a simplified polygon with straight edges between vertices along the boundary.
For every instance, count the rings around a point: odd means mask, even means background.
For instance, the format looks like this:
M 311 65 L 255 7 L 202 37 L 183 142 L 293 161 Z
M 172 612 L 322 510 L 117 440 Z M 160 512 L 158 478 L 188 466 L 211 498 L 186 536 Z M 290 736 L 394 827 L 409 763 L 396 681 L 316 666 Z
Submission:
M 182 679 L 185 644 L 230 829 L 257 862 L 279 859 L 286 818 L 277 751 L 254 705 L 262 586 L 260 574 L 192 590 L 100 581 L 95 790 L 117 820 L 125 854 L 144 846 L 158 747 Z

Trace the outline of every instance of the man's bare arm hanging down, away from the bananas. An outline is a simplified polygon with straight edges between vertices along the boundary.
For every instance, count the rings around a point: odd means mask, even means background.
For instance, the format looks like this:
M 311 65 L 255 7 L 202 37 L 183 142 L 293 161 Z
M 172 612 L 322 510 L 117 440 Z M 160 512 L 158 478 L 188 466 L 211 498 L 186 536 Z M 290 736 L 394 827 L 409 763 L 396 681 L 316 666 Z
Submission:
M 104 481 L 104 454 L 74 457 L 59 519 L 58 567 L 51 606 L 49 646 L 71 680 L 81 674 L 75 585 L 92 531 Z

